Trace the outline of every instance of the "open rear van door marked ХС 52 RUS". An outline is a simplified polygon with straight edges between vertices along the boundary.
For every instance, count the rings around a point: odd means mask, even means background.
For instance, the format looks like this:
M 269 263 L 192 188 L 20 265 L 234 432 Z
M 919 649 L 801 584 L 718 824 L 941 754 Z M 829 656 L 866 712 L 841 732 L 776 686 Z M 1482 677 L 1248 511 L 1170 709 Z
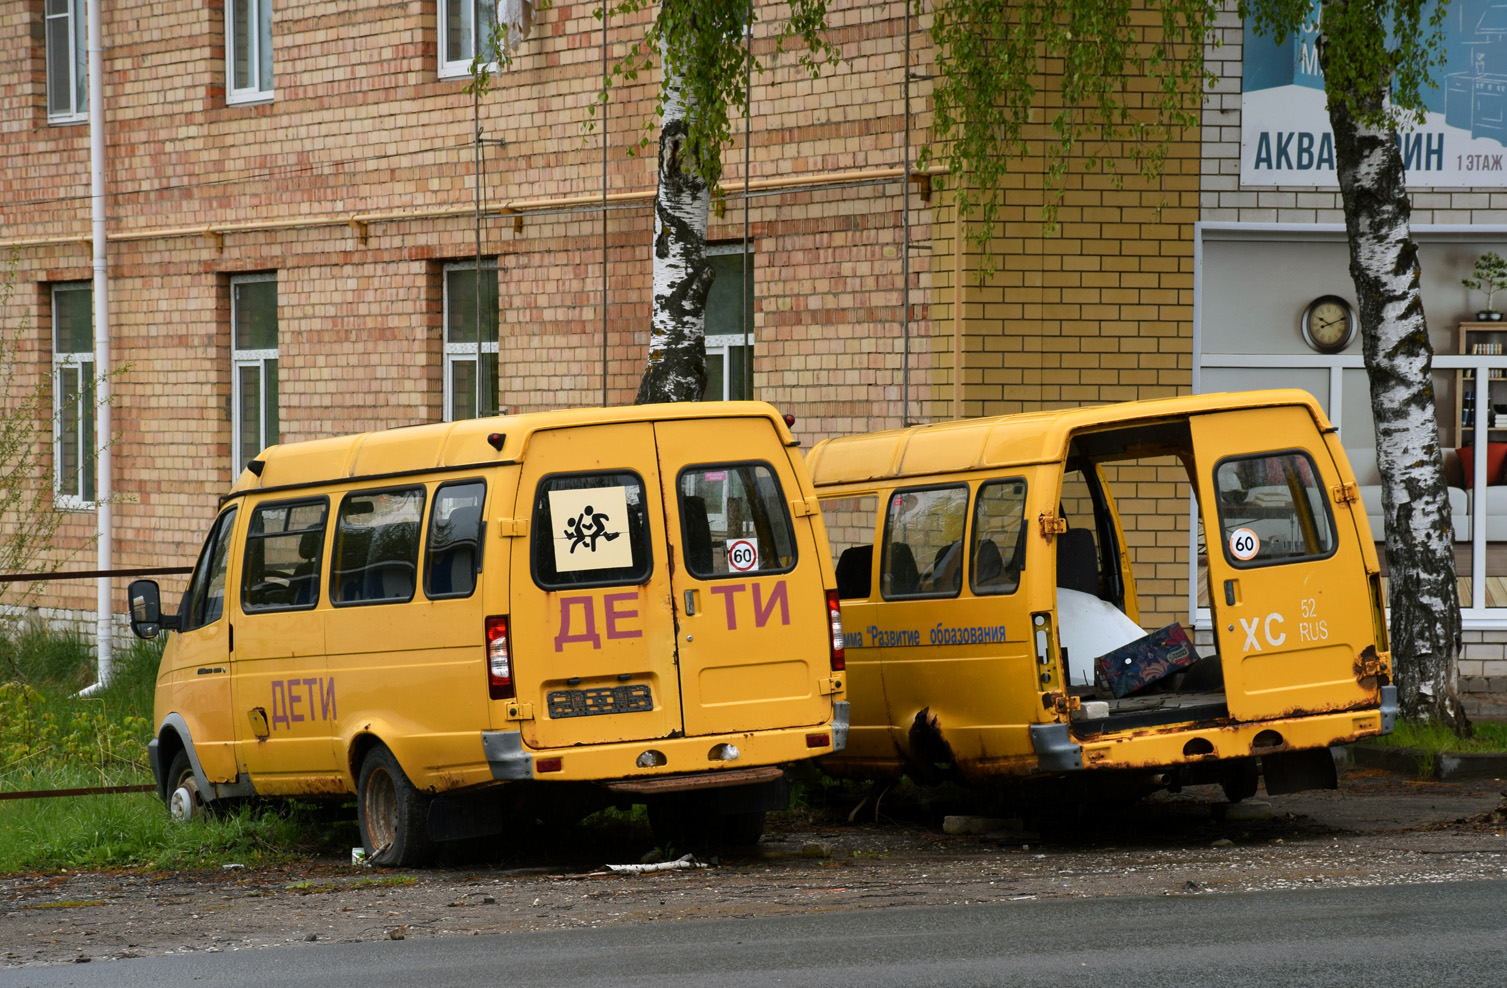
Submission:
M 1209 598 L 1234 720 L 1376 703 L 1358 502 L 1301 407 L 1192 419 Z M 1374 682 L 1374 679 L 1367 679 Z

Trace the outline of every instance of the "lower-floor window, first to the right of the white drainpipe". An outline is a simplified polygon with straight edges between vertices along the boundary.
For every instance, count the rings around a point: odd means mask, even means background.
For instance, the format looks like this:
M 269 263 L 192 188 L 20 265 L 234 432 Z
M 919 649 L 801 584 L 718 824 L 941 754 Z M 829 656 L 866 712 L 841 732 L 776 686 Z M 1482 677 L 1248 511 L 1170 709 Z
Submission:
M 231 422 L 235 468 L 277 440 L 277 276 L 231 279 Z

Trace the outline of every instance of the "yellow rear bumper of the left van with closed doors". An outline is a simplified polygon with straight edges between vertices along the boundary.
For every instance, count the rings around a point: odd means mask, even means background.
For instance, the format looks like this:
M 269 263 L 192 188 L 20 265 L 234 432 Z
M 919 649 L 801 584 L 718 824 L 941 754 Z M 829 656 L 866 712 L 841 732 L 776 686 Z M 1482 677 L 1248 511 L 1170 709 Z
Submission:
M 845 703 L 844 703 L 845 706 Z M 845 714 L 845 711 L 842 711 Z M 842 724 L 845 727 L 845 721 Z M 543 782 L 650 780 L 690 773 L 717 773 L 766 765 L 784 765 L 830 755 L 842 739 L 836 723 L 781 730 L 704 735 L 698 738 L 657 738 L 570 749 L 529 749 L 518 730 L 482 732 L 482 750 L 497 782 L 538 779 Z M 808 738 L 821 735 L 824 744 L 812 747 Z M 737 758 L 726 758 L 729 749 Z M 643 758 L 645 755 L 648 758 Z M 540 771 L 555 759 L 559 768 Z M 653 762 L 642 767 L 639 762 Z M 686 786 L 695 788 L 695 786 Z

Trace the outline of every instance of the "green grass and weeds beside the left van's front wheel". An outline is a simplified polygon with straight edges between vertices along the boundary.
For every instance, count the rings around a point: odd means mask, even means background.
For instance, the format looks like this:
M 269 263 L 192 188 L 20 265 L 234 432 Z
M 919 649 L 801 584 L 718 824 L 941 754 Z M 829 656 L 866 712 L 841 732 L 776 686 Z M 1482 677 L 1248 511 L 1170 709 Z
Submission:
M 0 792 L 149 785 L 152 690 L 161 648 L 137 642 L 95 681 L 87 642 L 0 633 Z M 354 813 L 351 813 L 354 816 Z M 359 843 L 354 819 L 300 804 L 241 806 L 178 824 L 154 792 L 0 800 L 0 874 L 105 868 L 217 868 L 333 852 Z

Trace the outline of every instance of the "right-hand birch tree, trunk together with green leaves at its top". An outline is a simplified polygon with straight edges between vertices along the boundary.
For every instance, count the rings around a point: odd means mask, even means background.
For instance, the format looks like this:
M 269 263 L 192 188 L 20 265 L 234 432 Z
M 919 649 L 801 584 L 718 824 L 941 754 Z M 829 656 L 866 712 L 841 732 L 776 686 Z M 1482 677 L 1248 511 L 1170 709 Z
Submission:
M 1447 3 L 1323 0 L 1325 74 L 1350 279 L 1376 419 L 1391 649 L 1402 714 L 1469 732 L 1460 705 L 1460 598 L 1450 500 L 1441 471 L 1418 247 L 1409 227 L 1398 130 L 1423 122 L 1423 89 L 1442 65 Z M 1242 0 L 1240 14 L 1281 44 L 1310 0 Z

